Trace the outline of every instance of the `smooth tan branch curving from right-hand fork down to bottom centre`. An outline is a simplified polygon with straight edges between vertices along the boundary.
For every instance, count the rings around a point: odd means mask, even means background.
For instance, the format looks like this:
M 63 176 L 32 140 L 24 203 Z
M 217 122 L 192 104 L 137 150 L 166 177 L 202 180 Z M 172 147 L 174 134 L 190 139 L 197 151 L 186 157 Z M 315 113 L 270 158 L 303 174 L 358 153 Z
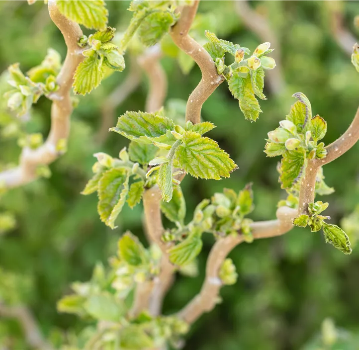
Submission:
M 293 219 L 296 217 L 296 209 L 280 207 L 276 212 L 276 220 L 254 222 L 252 234 L 254 239 L 269 238 L 285 234 L 293 227 Z M 223 283 L 219 278 L 219 270 L 228 254 L 243 242 L 243 236 L 228 235 L 218 241 L 212 247 L 206 265 L 206 276 L 201 291 L 178 314 L 178 316 L 192 324 L 203 313 L 211 311 L 218 300 Z

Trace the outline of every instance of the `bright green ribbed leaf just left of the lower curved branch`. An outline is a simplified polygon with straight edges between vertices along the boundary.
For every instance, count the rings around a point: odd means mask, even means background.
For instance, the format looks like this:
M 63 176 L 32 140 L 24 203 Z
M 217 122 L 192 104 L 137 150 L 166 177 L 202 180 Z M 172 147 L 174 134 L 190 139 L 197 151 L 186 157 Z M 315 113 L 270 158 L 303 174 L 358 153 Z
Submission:
M 184 266 L 193 261 L 202 250 L 201 235 L 190 234 L 184 241 L 169 250 L 171 263 Z

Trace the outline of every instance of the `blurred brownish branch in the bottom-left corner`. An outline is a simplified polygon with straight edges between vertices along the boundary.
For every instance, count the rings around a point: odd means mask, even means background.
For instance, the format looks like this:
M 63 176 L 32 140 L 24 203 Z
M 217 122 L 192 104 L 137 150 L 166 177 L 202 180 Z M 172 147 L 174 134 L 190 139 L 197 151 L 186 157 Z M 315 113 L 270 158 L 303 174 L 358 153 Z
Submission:
M 53 349 L 44 340 L 36 320 L 25 306 L 6 306 L 0 303 L 0 316 L 14 318 L 20 323 L 25 334 L 26 342 L 31 348 L 41 350 Z

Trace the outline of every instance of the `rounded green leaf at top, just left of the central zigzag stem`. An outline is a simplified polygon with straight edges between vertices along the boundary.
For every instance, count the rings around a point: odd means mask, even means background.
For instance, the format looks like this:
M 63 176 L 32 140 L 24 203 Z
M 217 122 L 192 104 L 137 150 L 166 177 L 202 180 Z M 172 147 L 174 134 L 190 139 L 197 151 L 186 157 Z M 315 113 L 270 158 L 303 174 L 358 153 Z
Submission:
M 174 16 L 169 11 L 149 14 L 138 29 L 142 44 L 152 46 L 159 42 L 175 23 Z

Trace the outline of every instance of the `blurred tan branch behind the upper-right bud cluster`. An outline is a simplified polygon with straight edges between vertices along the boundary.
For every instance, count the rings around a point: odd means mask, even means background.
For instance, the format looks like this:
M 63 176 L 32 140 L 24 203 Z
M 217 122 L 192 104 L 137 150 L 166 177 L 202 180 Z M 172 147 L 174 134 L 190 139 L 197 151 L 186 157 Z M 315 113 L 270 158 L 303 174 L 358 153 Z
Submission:
M 277 35 L 271 28 L 266 17 L 256 12 L 248 0 L 234 0 L 234 8 L 243 23 L 264 42 L 270 42 L 275 50 L 271 54 L 276 62 L 275 69 L 267 71 L 269 89 L 273 94 L 280 94 L 285 87 L 283 72 L 281 69 L 281 48 Z

